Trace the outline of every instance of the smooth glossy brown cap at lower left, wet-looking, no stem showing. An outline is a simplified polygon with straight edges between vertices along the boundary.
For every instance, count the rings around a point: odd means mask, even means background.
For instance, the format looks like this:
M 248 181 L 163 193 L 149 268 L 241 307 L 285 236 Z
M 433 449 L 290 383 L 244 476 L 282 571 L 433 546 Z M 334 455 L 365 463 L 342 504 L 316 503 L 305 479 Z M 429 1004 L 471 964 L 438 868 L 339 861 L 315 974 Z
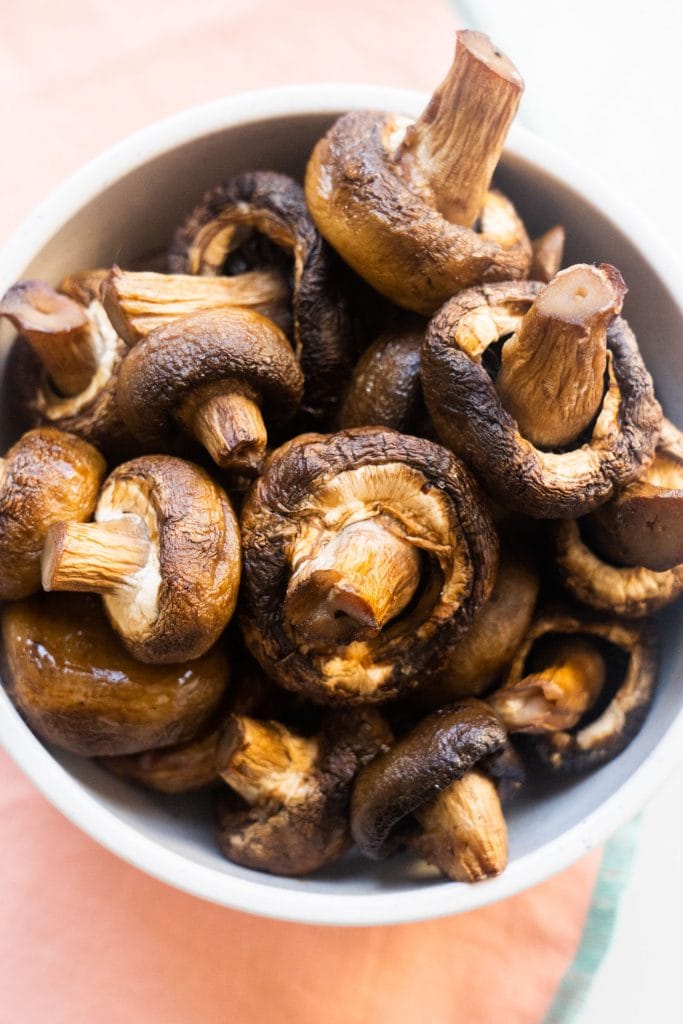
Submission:
M 142 665 L 96 598 L 36 595 L 2 609 L 2 677 L 42 739 L 92 757 L 189 740 L 220 702 L 228 666 L 217 648 L 191 665 Z

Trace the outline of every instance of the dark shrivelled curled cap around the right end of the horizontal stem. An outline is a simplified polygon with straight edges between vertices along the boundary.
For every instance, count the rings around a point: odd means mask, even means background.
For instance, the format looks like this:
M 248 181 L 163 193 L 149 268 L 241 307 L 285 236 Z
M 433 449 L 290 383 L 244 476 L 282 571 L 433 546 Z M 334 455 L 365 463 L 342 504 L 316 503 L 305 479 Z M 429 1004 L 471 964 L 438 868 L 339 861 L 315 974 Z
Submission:
M 294 259 L 292 312 L 295 350 L 306 382 L 303 410 L 329 418 L 351 369 L 353 332 L 336 257 L 315 229 L 293 178 L 253 171 L 210 189 L 176 231 L 169 270 L 221 274 L 229 254 L 254 232 Z

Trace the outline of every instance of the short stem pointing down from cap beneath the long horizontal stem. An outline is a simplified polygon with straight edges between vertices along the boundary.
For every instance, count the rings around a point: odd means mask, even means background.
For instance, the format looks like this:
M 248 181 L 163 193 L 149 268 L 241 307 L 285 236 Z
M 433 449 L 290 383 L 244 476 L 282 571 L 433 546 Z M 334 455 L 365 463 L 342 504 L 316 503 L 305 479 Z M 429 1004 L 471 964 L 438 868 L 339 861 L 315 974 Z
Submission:
M 268 441 L 254 397 L 231 381 L 199 387 L 177 417 L 221 469 L 257 475 Z

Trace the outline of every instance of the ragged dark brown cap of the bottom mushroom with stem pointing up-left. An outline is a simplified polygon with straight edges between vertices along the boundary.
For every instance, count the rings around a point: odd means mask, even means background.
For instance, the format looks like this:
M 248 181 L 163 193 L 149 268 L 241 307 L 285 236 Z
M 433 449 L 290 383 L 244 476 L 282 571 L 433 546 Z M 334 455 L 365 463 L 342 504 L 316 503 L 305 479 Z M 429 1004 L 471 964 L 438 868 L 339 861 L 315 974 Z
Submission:
M 245 867 L 286 876 L 308 874 L 336 860 L 350 846 L 352 781 L 388 740 L 390 733 L 374 710 L 342 709 L 327 716 L 312 770 L 305 778 L 293 776 L 289 802 L 252 807 L 227 787 L 221 791 L 216 823 L 224 855 Z M 219 748 L 219 768 L 242 741 L 236 718 Z M 295 782 L 305 787 L 303 800 L 296 800 Z

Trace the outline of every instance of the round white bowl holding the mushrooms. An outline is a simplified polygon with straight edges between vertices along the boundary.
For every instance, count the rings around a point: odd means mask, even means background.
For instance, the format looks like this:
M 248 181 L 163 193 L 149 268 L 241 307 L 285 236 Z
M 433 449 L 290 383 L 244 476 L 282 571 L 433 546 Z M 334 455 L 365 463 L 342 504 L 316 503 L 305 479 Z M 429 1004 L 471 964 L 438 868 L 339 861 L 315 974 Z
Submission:
M 165 246 L 203 190 L 237 171 L 272 167 L 300 176 L 313 142 L 342 112 L 417 115 L 426 97 L 394 89 L 300 86 L 247 93 L 169 118 L 110 150 L 33 214 L 0 260 L 0 294 L 19 278 L 56 282 Z M 617 167 L 615 164 L 615 174 Z M 661 244 L 612 196 L 541 139 L 511 133 L 497 175 L 531 234 L 568 229 L 568 261 L 607 261 L 630 288 L 635 328 L 670 417 L 683 421 L 683 291 Z M 3 356 L 11 332 L 4 327 Z M 12 439 L 2 421 L 3 441 Z M 158 879 L 225 906 L 292 921 L 390 924 L 470 910 L 560 870 L 634 815 L 683 749 L 681 608 L 665 618 L 660 684 L 637 738 L 611 764 L 536 792 L 510 809 L 510 865 L 466 886 L 408 857 L 374 864 L 351 854 L 310 879 L 259 874 L 224 860 L 208 802 L 135 790 L 93 763 L 48 750 L 0 690 L 0 739 L 38 788 L 80 828 Z

